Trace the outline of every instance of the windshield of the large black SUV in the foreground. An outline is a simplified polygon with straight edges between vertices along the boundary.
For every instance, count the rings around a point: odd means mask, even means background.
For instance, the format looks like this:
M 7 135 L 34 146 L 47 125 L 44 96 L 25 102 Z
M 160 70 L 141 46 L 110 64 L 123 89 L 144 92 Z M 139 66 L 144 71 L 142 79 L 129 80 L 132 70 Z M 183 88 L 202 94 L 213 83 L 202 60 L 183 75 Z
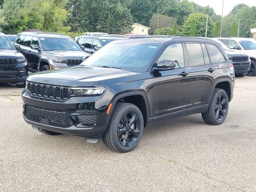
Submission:
M 82 62 L 82 65 L 144 72 L 159 47 L 158 44 L 148 43 L 110 43 Z

